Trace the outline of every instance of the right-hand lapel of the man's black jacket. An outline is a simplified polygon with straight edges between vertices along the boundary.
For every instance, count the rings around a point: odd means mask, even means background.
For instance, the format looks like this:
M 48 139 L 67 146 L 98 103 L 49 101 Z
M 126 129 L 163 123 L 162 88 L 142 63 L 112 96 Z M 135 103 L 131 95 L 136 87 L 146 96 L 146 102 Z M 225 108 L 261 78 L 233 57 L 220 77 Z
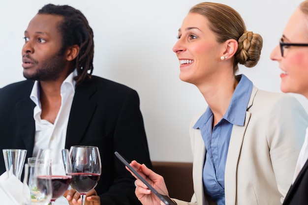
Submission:
M 66 148 L 78 145 L 82 140 L 97 106 L 96 102 L 91 100 L 95 91 L 93 79 L 76 87 L 67 125 Z

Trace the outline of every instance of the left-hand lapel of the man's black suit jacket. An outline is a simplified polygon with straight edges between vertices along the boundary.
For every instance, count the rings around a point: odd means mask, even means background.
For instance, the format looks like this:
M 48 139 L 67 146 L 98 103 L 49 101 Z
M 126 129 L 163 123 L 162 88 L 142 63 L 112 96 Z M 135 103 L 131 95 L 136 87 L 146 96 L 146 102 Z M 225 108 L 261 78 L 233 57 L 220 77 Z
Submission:
M 22 92 L 25 93 L 25 97 L 15 107 L 18 127 L 28 150 L 28 156 L 32 156 L 35 137 L 35 122 L 33 118 L 35 103 L 30 99 L 32 87 L 33 83 L 29 87 L 23 88 Z

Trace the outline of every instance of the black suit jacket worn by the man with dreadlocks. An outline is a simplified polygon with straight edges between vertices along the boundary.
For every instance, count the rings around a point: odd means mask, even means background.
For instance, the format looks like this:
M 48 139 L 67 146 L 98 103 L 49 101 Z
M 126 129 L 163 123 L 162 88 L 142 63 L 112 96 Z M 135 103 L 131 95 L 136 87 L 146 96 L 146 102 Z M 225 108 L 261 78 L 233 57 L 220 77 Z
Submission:
M 27 149 L 27 157 L 32 156 L 35 135 L 32 87 L 33 82 L 26 80 L 0 89 L 0 149 Z M 134 194 L 134 177 L 114 155 L 118 151 L 128 160 L 152 166 L 135 90 L 96 76 L 77 86 L 65 148 L 73 145 L 99 148 L 102 172 L 95 190 L 102 205 L 140 204 Z

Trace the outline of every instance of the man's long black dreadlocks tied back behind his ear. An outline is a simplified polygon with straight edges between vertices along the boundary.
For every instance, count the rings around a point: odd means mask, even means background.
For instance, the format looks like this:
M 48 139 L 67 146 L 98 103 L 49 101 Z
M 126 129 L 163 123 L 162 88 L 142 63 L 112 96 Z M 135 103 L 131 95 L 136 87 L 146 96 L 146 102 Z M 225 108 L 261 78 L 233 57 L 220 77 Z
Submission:
M 60 55 L 63 55 L 67 47 L 78 45 L 79 53 L 74 59 L 72 71 L 77 69 L 77 76 L 74 78 L 76 86 L 85 79 L 91 79 L 93 72 L 93 31 L 88 20 L 81 11 L 68 5 L 46 4 L 38 14 L 51 14 L 63 17 L 63 21 L 58 26 L 58 31 L 62 34 L 62 48 Z

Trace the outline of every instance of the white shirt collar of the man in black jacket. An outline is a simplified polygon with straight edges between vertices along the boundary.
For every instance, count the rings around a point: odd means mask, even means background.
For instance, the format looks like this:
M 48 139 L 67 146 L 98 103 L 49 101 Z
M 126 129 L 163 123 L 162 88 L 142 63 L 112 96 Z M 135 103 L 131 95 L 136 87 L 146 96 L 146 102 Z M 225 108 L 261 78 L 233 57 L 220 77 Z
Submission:
M 61 89 L 63 88 L 64 85 L 68 85 L 72 87 L 72 90 L 75 91 L 75 85 L 76 81 L 74 81 L 74 77 L 77 76 L 77 70 L 75 69 L 73 72 L 71 72 L 66 79 L 62 82 Z M 33 88 L 30 94 L 30 99 L 39 107 L 40 102 L 39 102 L 39 81 L 35 81 L 33 84 Z

